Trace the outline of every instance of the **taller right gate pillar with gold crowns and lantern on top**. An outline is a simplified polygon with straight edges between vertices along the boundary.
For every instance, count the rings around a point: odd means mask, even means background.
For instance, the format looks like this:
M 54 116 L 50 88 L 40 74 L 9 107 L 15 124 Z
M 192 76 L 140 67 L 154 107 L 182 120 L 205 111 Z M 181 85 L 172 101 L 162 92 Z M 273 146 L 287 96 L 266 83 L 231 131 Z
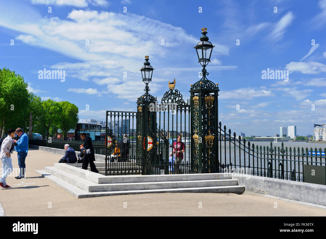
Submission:
M 202 66 L 202 77 L 190 85 L 192 172 L 219 172 L 218 160 L 218 84 L 208 80 L 207 64 L 211 61 L 213 44 L 209 42 L 207 28 L 201 29 L 200 42 L 194 47 Z

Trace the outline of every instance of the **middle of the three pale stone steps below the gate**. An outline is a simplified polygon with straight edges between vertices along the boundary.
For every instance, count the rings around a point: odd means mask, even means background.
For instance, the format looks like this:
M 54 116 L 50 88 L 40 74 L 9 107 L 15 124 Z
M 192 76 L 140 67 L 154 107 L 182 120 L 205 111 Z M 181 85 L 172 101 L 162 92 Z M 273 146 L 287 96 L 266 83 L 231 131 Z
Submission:
M 173 188 L 193 188 L 193 187 L 199 188 L 199 187 L 238 185 L 238 180 L 236 179 L 97 184 L 55 167 L 45 167 L 44 170 L 60 179 L 67 181 L 70 184 L 73 184 L 74 186 L 82 188 L 86 192 L 107 192 L 107 191 L 126 191 L 126 190 L 133 191 L 133 190 L 147 190 L 147 189 L 173 189 Z

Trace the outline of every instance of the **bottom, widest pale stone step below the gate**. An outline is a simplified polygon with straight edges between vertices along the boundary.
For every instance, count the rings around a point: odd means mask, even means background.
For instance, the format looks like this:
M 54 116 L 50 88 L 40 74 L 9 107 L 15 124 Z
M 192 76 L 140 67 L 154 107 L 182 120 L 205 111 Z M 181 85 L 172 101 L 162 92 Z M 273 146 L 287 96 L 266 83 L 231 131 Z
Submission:
M 35 170 L 39 175 L 50 180 L 58 187 L 66 190 L 77 198 L 99 197 L 110 195 L 141 194 L 141 193 L 244 193 L 243 186 L 217 186 L 217 187 L 197 187 L 197 188 L 173 188 L 173 189 L 147 189 L 147 190 L 126 190 L 111 192 L 86 192 L 67 181 L 49 174 L 44 170 Z

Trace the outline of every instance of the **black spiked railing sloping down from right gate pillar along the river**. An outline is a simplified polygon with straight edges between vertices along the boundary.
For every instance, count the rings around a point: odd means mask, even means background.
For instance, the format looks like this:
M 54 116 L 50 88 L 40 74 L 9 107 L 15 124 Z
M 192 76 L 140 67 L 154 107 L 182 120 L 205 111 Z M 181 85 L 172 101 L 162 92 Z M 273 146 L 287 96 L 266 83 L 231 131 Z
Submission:
M 222 136 L 222 137 L 221 137 Z M 226 133 L 226 126 L 222 129 L 219 123 L 219 170 L 220 172 L 240 172 L 262 177 L 287 179 L 304 182 L 304 164 L 326 166 L 326 157 L 322 156 L 322 149 L 308 147 L 281 147 L 258 146 L 246 142 L 245 139 L 231 136 L 231 130 Z M 326 152 L 326 148 L 324 148 Z

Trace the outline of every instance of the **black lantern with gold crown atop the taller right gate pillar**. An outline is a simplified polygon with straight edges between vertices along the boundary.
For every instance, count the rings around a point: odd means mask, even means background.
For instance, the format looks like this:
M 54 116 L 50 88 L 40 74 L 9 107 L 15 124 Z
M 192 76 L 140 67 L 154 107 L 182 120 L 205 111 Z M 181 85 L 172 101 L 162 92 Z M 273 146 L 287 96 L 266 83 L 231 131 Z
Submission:
M 203 27 L 201 31 L 203 35 L 200 37 L 200 42 L 194 48 L 197 50 L 198 62 L 200 65 L 206 66 L 208 62 L 211 61 L 212 49 L 214 46 L 208 41 L 208 36 L 206 36 L 207 28 Z

